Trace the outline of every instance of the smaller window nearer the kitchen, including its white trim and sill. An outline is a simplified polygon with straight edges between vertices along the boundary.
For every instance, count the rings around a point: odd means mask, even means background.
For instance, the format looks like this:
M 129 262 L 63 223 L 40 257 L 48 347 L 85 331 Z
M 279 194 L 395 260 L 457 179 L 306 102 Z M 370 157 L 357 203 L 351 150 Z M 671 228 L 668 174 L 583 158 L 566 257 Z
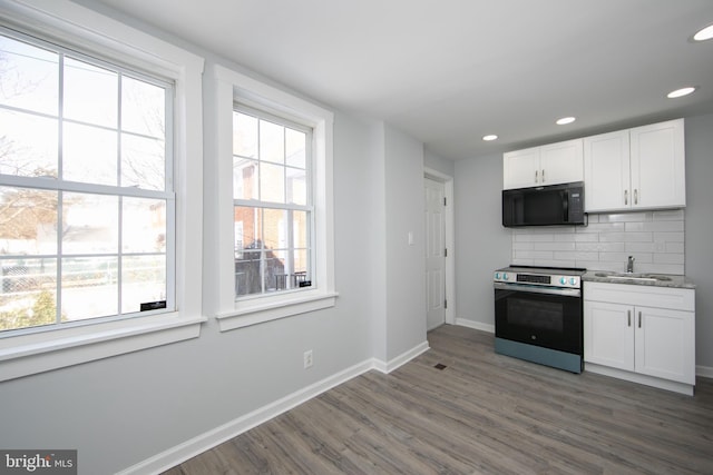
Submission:
M 205 311 L 225 331 L 334 306 L 332 112 L 221 66 L 212 77 Z

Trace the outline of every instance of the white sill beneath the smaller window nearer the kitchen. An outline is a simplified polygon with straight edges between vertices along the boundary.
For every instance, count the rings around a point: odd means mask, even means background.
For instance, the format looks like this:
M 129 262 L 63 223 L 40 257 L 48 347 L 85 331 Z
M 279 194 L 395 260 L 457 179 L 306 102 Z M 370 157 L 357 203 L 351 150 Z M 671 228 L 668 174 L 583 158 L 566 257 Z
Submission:
M 265 299 L 256 299 L 250 303 L 238 303 L 232 311 L 217 314 L 221 331 L 257 325 L 265 321 L 291 317 L 333 307 L 339 296 L 335 291 L 310 293 L 299 296 L 286 295 Z

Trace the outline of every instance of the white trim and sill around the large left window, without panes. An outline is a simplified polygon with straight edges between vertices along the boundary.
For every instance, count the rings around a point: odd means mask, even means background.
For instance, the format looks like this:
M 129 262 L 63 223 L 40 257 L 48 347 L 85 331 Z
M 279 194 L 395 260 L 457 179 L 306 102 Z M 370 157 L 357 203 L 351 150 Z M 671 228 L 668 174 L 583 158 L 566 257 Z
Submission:
M 2 2 L 2 24 L 175 81 L 177 311 L 0 338 L 0 382 L 199 336 L 204 59 L 68 0 Z

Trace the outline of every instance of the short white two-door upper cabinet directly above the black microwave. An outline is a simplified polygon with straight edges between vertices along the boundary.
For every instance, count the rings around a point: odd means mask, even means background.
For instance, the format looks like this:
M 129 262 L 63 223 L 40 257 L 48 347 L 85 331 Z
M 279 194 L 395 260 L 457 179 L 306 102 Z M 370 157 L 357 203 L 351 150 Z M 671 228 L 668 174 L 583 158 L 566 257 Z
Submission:
M 507 152 L 502 156 L 502 189 L 582 181 L 583 160 L 582 139 Z

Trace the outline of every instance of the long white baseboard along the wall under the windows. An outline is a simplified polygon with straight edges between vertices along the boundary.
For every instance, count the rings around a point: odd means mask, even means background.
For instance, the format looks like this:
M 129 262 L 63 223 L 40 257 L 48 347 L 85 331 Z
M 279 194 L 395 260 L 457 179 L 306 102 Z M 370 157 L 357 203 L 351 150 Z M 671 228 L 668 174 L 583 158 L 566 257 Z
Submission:
M 189 441 L 178 444 L 167 451 L 156 454 L 136 465 L 133 465 L 121 472 L 118 475 L 144 475 L 144 474 L 159 474 L 165 472 L 198 454 L 202 454 L 211 448 L 229 441 L 231 438 L 256 427 L 282 413 L 285 413 L 293 407 L 305 403 L 320 394 L 339 386 L 342 383 L 367 373 L 371 369 L 377 369 L 381 373 L 391 373 L 401 365 L 410 362 L 420 354 L 429 350 L 428 342 L 423 342 L 408 352 L 397 356 L 390 362 L 383 362 L 377 358 L 368 359 L 363 363 L 356 364 L 350 368 L 346 368 L 340 373 L 329 376 L 321 382 L 314 383 L 307 387 L 304 387 L 295 393 L 275 400 L 260 409 L 245 414 L 236 419 L 233 419 L 222 426 L 215 427 L 206 433 L 203 433 Z

